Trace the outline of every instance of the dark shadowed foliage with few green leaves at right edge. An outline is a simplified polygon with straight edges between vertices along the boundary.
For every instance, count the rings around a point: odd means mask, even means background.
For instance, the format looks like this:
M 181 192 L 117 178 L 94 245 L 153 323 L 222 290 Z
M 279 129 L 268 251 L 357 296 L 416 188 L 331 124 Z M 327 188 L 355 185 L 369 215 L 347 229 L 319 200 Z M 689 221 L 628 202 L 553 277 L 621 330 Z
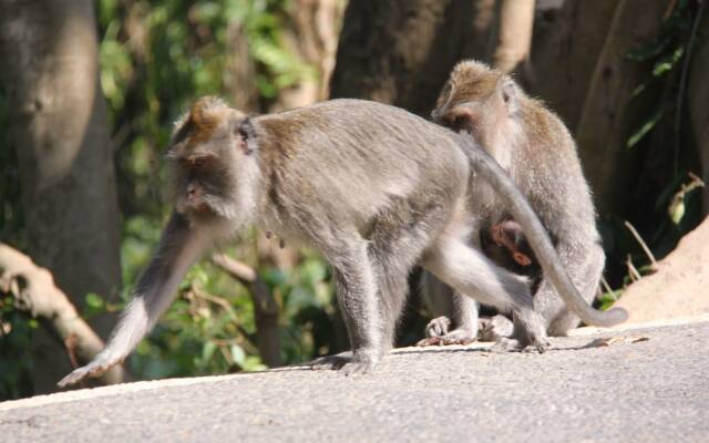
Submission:
M 677 241 L 693 229 L 702 218 L 701 188 L 703 183 L 693 173 L 696 152 L 687 135 L 682 115 L 686 74 L 700 19 L 700 4 L 690 0 L 671 3 L 658 35 L 649 43 L 634 48 L 627 59 L 647 66 L 647 80 L 634 90 L 633 100 L 645 100 L 647 114 L 627 138 L 628 150 L 646 150 L 646 175 L 654 183 L 640 193 L 650 196 L 653 212 L 631 214 L 641 228 L 643 239 L 658 258 L 671 251 Z M 670 140 L 671 143 L 664 143 Z M 656 147 L 662 145 L 661 148 Z M 669 147 L 669 148 L 668 148 Z M 649 165 L 649 166 L 648 166 Z M 697 171 L 698 172 L 698 171 Z M 637 207 L 644 207 L 639 202 Z M 635 208 L 637 210 L 637 208 Z M 608 255 L 607 269 L 628 269 L 619 277 L 620 287 L 633 281 L 630 267 L 640 275 L 654 271 L 650 259 L 618 218 L 602 222 L 600 229 Z M 635 265 L 633 265 L 635 264 Z M 603 295 L 602 305 L 609 306 L 623 289 Z

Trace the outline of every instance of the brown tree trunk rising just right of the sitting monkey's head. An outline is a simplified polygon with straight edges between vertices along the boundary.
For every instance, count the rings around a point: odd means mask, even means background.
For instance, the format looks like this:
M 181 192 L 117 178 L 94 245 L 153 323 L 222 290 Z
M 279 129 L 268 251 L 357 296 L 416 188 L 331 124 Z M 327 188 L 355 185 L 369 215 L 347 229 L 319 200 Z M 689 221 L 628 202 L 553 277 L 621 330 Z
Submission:
M 530 90 L 574 132 L 617 0 L 567 1 L 545 32 L 535 23 Z M 540 24 L 537 27 L 537 24 Z

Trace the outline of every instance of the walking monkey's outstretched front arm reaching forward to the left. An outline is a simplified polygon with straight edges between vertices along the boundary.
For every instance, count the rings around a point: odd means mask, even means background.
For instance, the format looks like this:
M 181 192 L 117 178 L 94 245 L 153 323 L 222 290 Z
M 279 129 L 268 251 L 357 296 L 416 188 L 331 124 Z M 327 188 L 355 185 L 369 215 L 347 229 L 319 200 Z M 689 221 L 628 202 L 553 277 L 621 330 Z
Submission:
M 133 300 L 123 311 L 106 348 L 89 364 L 64 377 L 58 385 L 63 388 L 88 377 L 99 377 L 121 363 L 169 307 L 177 286 L 206 245 L 204 233 L 197 234 L 184 216 L 173 214 L 157 253 L 141 276 Z

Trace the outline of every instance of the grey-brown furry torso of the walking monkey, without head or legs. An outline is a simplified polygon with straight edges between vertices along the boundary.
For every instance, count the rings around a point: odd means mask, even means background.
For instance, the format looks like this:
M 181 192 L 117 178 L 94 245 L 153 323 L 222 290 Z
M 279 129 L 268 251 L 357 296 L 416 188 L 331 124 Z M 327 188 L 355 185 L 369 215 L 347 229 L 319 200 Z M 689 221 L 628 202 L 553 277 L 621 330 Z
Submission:
M 273 203 L 299 217 L 329 214 L 363 228 L 403 200 L 444 204 L 466 185 L 467 159 L 454 134 L 393 106 L 333 100 L 254 124 L 259 155 L 271 165 L 265 179 L 278 194 Z M 290 190 L 306 208 L 288 207 Z

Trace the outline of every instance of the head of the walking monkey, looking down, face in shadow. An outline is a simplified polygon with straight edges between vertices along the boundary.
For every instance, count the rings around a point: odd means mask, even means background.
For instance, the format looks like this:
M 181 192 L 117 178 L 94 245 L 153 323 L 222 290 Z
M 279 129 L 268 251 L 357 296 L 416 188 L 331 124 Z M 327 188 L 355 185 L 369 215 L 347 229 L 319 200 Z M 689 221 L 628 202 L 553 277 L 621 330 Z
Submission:
M 198 100 L 175 125 L 167 154 L 176 210 L 193 222 L 250 216 L 255 143 L 243 112 L 216 97 Z

